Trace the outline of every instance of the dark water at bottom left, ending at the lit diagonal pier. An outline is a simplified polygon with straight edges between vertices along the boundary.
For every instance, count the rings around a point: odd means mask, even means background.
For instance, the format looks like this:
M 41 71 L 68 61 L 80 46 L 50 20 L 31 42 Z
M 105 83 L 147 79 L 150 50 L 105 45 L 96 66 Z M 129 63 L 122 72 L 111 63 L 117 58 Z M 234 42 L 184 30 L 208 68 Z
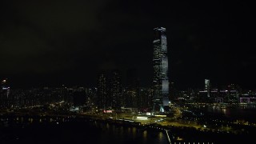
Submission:
M 158 130 L 139 130 L 105 122 L 32 122 L 5 124 L 0 128 L 0 143 L 168 143 Z

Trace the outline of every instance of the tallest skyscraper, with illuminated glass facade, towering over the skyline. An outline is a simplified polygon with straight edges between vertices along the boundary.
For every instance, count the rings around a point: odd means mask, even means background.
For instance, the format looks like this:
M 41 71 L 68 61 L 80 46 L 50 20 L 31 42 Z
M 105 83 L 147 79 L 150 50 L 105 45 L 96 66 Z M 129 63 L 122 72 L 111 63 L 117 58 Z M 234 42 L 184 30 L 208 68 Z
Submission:
M 154 28 L 154 103 L 157 103 L 160 111 L 163 106 L 168 106 L 169 103 L 169 78 L 168 78 L 168 57 L 167 57 L 167 41 L 166 28 Z

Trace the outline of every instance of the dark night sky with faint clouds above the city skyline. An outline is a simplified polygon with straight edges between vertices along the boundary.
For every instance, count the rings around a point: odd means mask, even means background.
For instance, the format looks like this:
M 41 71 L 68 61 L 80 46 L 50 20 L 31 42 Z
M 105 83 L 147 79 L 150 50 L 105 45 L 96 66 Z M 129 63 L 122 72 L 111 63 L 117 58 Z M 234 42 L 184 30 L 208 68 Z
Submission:
M 154 27 L 166 27 L 170 81 L 180 89 L 255 89 L 250 2 L 51 0 L 0 2 L 0 78 L 10 86 L 95 86 L 102 70 L 153 74 Z

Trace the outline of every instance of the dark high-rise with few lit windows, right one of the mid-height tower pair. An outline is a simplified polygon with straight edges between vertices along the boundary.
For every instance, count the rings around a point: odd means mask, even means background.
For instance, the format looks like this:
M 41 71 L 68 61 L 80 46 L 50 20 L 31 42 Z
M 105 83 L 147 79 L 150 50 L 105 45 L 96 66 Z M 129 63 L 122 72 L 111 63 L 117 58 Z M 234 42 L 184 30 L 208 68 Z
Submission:
M 110 79 L 110 106 L 119 109 L 123 106 L 121 74 L 119 70 L 113 70 Z

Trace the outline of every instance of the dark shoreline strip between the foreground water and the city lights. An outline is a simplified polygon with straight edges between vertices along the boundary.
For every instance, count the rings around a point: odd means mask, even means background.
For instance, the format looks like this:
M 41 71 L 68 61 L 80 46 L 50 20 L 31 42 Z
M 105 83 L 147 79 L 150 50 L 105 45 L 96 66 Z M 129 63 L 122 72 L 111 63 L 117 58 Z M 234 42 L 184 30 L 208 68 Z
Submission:
M 0 118 L 2 118 L 4 121 L 7 122 L 9 125 L 17 125 L 17 126 L 30 126 L 33 124 L 40 124 L 40 123 L 46 123 L 46 124 L 53 124 L 53 125 L 59 125 L 66 122 L 100 122 L 104 124 L 111 124 L 114 126 L 131 126 L 135 127 L 136 130 L 143 132 L 144 130 L 149 131 L 159 131 L 169 134 L 168 137 L 170 138 L 171 142 L 218 142 L 215 138 L 226 138 L 228 140 L 236 137 L 236 138 L 244 138 L 245 134 L 227 134 L 224 132 L 214 132 L 214 131 L 200 131 L 196 130 L 192 127 L 186 127 L 186 126 L 161 126 L 159 124 L 148 124 L 143 125 L 140 122 L 128 122 L 124 120 L 115 120 L 115 119 L 103 119 L 103 118 L 97 118 L 93 117 L 91 115 L 46 115 L 46 116 L 40 116 L 40 115 L 15 115 L 15 114 L 6 114 L 6 115 L 0 115 Z M 5 119 L 7 118 L 7 119 Z M 3 122 L 5 123 L 5 122 Z M 0 125 L 0 127 L 2 127 Z M 3 125 L 3 127 L 8 127 Z M 246 136 L 248 138 L 249 136 Z M 201 138 L 201 139 L 200 139 Z

